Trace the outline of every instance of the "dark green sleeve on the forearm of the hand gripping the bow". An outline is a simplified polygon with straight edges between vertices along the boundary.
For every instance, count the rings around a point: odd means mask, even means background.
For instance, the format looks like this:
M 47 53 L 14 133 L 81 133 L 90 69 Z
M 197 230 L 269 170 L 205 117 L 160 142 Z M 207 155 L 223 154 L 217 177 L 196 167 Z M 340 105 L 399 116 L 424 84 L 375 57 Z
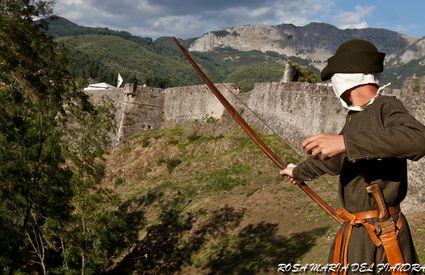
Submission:
M 323 174 L 338 175 L 341 172 L 344 158 L 345 154 L 327 160 L 309 157 L 303 162 L 300 162 L 294 170 L 292 170 L 292 175 L 295 179 L 300 181 L 310 181 Z

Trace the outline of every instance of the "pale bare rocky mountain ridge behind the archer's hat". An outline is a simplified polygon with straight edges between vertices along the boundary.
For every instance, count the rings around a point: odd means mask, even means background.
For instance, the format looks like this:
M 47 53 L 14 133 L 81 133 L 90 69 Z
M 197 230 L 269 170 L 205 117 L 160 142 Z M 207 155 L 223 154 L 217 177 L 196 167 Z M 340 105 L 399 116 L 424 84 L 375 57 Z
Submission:
M 374 43 L 379 51 L 387 53 L 388 64 L 406 64 L 414 59 L 424 62 L 425 39 L 385 29 L 341 30 L 324 23 L 310 23 L 304 27 L 291 24 L 237 26 L 206 33 L 196 39 L 189 50 L 208 52 L 233 48 L 239 51 L 271 51 L 308 60 L 320 70 L 339 45 L 353 38 Z

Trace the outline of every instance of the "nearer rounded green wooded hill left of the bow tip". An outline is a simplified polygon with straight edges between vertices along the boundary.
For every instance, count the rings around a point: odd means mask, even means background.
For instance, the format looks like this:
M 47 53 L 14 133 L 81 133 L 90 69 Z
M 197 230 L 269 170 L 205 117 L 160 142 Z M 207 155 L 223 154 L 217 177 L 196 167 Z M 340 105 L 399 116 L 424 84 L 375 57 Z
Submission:
M 136 77 L 140 82 L 160 87 L 197 82 L 196 75 L 188 64 L 179 62 L 177 58 L 161 56 L 140 44 L 117 36 L 66 36 L 57 38 L 56 41 L 64 43 L 72 52 L 80 52 L 91 60 L 98 60 L 110 72 L 115 72 L 114 77 L 119 72 L 127 81 Z M 76 72 L 80 73 L 78 70 Z M 102 81 L 101 77 L 103 75 L 98 75 L 95 79 Z

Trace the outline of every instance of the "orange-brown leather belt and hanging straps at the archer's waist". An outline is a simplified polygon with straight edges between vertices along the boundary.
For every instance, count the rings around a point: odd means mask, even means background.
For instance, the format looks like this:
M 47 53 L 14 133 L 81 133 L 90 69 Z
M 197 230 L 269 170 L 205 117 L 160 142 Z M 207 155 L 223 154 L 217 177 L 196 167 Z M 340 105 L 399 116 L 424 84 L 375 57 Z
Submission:
M 400 206 L 389 207 L 390 215 L 395 215 L 400 213 Z M 335 246 L 334 246 L 334 255 L 333 255 L 333 263 L 341 264 L 342 267 L 347 266 L 348 264 L 348 246 L 350 243 L 351 233 L 353 231 L 353 226 L 363 226 L 368 232 L 372 242 L 375 246 L 380 247 L 381 245 L 384 247 L 384 251 L 387 257 L 387 261 L 390 266 L 395 266 L 396 264 L 404 263 L 403 254 L 401 253 L 400 246 L 398 244 L 397 238 L 400 228 L 402 227 L 402 219 L 399 218 L 397 224 L 391 228 L 392 220 L 388 221 L 388 226 L 384 227 L 384 229 L 379 232 L 378 228 L 370 224 L 366 221 L 369 218 L 377 218 L 378 210 L 370 210 L 364 212 L 350 213 L 345 209 L 337 210 L 337 214 L 340 215 L 346 222 L 338 231 L 335 238 Z M 384 222 L 386 223 L 386 222 Z M 385 224 L 382 223 L 383 226 Z M 388 229 L 386 229 L 388 228 Z M 379 237 L 377 234 L 379 234 Z M 341 274 L 346 274 L 347 271 L 344 270 Z M 332 274 L 339 274 L 339 272 L 333 272 Z M 393 272 L 392 274 L 406 274 L 402 272 Z

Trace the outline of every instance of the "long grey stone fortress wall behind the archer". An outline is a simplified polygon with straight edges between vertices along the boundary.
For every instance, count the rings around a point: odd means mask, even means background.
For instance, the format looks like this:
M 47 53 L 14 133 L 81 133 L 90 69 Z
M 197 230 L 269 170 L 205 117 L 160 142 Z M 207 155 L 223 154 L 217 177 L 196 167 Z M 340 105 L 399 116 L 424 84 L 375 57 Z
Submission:
M 302 140 L 317 133 L 338 133 L 346 110 L 327 84 L 300 82 L 258 83 L 247 93 L 233 96 L 230 84 L 217 88 L 251 125 L 273 132 L 300 152 Z M 401 90 L 386 88 L 397 96 L 414 117 L 425 124 L 425 81 L 410 79 Z M 116 106 L 116 143 L 140 130 L 151 130 L 187 121 L 221 118 L 225 109 L 205 85 L 158 89 L 126 84 L 123 88 L 92 91 L 95 101 L 111 98 Z M 241 103 L 243 102 L 243 104 Z M 255 115 L 252 112 L 255 113 Z M 403 209 L 414 211 L 425 203 L 425 158 L 409 161 L 409 194 Z

